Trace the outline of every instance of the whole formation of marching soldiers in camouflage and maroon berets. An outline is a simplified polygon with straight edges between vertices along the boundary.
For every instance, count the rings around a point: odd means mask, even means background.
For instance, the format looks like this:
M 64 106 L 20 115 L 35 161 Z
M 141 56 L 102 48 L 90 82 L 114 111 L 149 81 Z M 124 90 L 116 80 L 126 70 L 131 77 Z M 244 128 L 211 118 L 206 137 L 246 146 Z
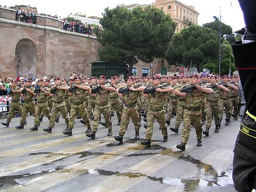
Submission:
M 62 115 L 67 124 L 63 134 L 72 136 L 74 121 L 78 116 L 80 122 L 87 126 L 86 135 L 95 139 L 101 114 L 105 119 L 105 123 L 101 124 L 108 128 L 107 136 L 112 136 L 111 117 L 116 112 L 120 130 L 115 140 L 122 143 L 130 118 L 135 129 L 134 139 L 139 138 L 143 116 L 147 123 L 144 125 L 147 133 L 141 144 L 150 146 L 154 121 L 159 123 L 162 142 L 167 142 L 166 124 L 170 125 L 170 120 L 176 114 L 174 127 L 170 127 L 170 131 L 178 134 L 181 121 L 184 120 L 181 143 L 177 145 L 177 148 L 184 151 L 191 126 L 196 130 L 197 146 L 202 146 L 202 133 L 209 136 L 212 118 L 215 120 L 215 133 L 221 127 L 224 109 L 225 125 L 229 124 L 231 116 L 234 120 L 238 119 L 238 81 L 239 77 L 229 78 L 227 75 L 222 78 L 155 75 L 152 78 L 131 76 L 124 82 L 118 76 L 108 81 L 104 75 L 100 75 L 89 80 L 81 76 L 71 77 L 69 81 L 55 78 L 52 86 L 50 80 L 39 79 L 35 87 L 27 79 L 24 87 L 20 88 L 13 80 L 8 93 L 12 97 L 10 113 L 7 122 L 2 124 L 8 127 L 17 111 L 21 118 L 20 125 L 15 128 L 24 129 L 30 112 L 35 117 L 31 131 L 37 131 L 42 118 L 46 116 L 49 126 L 43 130 L 52 133 L 55 122 Z M 20 104 L 20 97 L 24 99 L 23 105 Z M 36 105 L 33 98 L 37 100 Z M 93 120 L 92 125 L 89 118 Z M 202 130 L 204 123 L 205 131 Z

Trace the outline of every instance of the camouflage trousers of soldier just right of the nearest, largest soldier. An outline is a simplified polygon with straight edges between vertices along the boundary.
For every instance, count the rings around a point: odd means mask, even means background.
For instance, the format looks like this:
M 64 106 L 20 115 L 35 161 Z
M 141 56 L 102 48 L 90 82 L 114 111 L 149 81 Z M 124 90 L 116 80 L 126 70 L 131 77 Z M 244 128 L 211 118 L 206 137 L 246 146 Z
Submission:
M 205 102 L 205 106 L 206 106 L 206 109 L 205 109 L 205 113 L 206 113 L 205 127 L 210 129 L 212 115 L 214 115 L 215 125 L 219 124 L 219 108 L 220 108 L 220 106 L 219 106 L 218 103 L 212 104 L 209 101 Z

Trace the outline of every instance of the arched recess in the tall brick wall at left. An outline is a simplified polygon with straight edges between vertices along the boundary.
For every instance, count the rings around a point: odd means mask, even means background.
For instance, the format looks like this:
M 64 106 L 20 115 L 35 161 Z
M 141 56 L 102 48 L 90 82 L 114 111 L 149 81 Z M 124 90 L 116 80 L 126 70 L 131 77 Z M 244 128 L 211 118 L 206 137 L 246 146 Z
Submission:
M 36 75 L 37 50 L 34 42 L 30 39 L 18 41 L 15 49 L 16 75 Z

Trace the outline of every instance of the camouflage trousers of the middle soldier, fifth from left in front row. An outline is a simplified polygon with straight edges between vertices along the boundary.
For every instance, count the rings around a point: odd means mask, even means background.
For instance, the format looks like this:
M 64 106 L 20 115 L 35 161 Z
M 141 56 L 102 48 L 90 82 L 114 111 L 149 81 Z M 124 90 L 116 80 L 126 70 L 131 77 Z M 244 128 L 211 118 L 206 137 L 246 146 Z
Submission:
M 76 115 L 80 115 L 82 120 L 86 122 L 88 128 L 91 128 L 90 120 L 87 115 L 86 104 L 75 105 L 72 104 L 69 118 L 69 128 L 74 128 Z

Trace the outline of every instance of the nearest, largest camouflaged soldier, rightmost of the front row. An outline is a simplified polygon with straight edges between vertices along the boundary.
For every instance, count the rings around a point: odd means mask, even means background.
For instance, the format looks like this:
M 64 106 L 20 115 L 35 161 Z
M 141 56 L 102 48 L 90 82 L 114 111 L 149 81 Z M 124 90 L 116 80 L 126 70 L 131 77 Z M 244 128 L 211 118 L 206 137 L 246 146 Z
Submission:
M 181 136 L 181 144 L 178 144 L 176 147 L 182 151 L 185 151 L 185 145 L 189 138 L 190 126 L 194 125 L 197 134 L 197 146 L 202 146 L 202 110 L 201 104 L 203 101 L 203 92 L 207 94 L 212 94 L 214 91 L 210 88 L 202 88 L 197 84 L 198 76 L 191 75 L 190 82 L 195 84 L 197 89 L 194 89 L 192 93 L 182 93 L 180 92 L 182 88 L 174 90 L 176 95 L 185 98 L 185 110 L 184 110 L 184 125 Z

